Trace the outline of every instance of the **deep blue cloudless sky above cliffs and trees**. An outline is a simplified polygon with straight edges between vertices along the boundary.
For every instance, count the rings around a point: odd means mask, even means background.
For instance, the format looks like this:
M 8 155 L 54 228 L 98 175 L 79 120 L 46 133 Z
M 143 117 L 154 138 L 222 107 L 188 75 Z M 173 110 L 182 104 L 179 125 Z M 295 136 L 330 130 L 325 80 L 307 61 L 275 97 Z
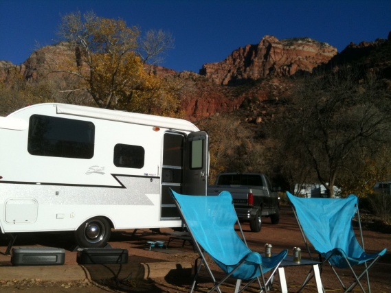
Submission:
M 391 31 L 391 0 L 0 0 L 0 60 L 19 65 L 57 43 L 61 16 L 77 10 L 171 32 L 175 49 L 161 65 L 197 73 L 265 35 L 310 37 L 342 51 Z

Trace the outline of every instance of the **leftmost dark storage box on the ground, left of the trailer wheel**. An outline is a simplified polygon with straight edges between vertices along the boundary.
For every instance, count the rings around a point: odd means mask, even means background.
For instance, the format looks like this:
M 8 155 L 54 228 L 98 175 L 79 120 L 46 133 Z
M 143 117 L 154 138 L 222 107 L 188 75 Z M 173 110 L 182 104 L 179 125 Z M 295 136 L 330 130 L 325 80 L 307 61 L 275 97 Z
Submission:
M 65 262 L 65 249 L 52 247 L 12 248 L 12 266 L 59 266 Z

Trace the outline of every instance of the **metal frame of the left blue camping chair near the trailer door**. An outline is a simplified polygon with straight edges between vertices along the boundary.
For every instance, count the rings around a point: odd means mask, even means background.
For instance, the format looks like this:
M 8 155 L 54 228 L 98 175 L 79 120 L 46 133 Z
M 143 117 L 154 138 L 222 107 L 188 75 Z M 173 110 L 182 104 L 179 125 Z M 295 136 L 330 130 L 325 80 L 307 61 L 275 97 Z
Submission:
M 228 191 L 223 191 L 225 193 L 228 193 Z M 223 284 L 225 281 L 227 281 L 227 279 L 229 279 L 230 277 L 233 277 L 232 274 L 234 274 L 234 272 L 236 272 L 236 270 L 238 270 L 239 268 L 241 268 L 241 266 L 243 265 L 243 263 L 246 263 L 247 262 L 247 259 L 246 258 L 243 258 L 237 265 L 236 267 L 234 268 L 234 270 L 232 270 L 231 272 L 227 273 L 225 275 L 225 277 L 223 277 L 223 279 L 221 279 L 220 281 L 216 281 L 216 278 L 214 277 L 214 274 L 212 272 L 212 269 L 210 268 L 210 265 L 206 259 L 206 254 L 208 253 L 207 251 L 205 251 L 205 249 L 199 244 L 199 241 L 197 241 L 197 237 L 194 236 L 194 233 L 192 232 L 192 224 L 188 221 L 188 219 L 186 218 L 186 215 L 184 215 L 182 209 L 181 209 L 181 204 L 179 203 L 179 201 L 177 200 L 177 197 L 176 197 L 176 192 L 175 191 L 172 191 L 172 189 L 170 189 L 170 194 L 171 196 L 174 198 L 175 200 L 175 204 L 177 205 L 178 209 L 179 209 L 179 213 L 181 214 L 181 219 L 183 220 L 186 228 L 188 229 L 188 232 L 190 233 L 190 236 L 192 237 L 192 241 L 193 241 L 193 245 L 194 245 L 194 248 L 197 250 L 197 253 L 199 253 L 199 257 L 195 260 L 195 263 L 194 263 L 194 279 L 193 279 L 193 283 L 192 283 L 192 288 L 190 290 L 190 292 L 193 292 L 194 289 L 196 288 L 197 286 L 197 278 L 199 277 L 199 272 L 203 267 L 205 267 L 205 269 L 207 270 L 210 278 L 212 279 L 212 282 L 213 282 L 213 287 L 212 289 L 210 289 L 209 292 L 213 292 L 213 291 L 217 291 L 219 293 L 221 293 L 221 289 L 219 288 L 219 286 L 221 284 Z M 178 196 L 182 196 L 181 194 L 177 194 Z M 220 194 L 219 194 L 220 196 Z M 231 196 L 231 195 L 230 195 Z M 207 196 L 197 196 L 198 198 L 207 198 Z M 232 196 L 231 196 L 232 198 Z M 233 207 L 232 207 L 232 211 L 234 211 Z M 227 212 L 230 212 L 230 211 L 227 211 Z M 236 212 L 234 212 L 235 215 L 236 215 Z M 244 242 L 244 244 L 247 246 L 247 242 L 245 241 L 245 235 L 243 233 L 243 230 L 241 228 L 241 224 L 237 218 L 237 215 L 236 215 L 236 224 L 238 225 L 238 229 L 240 231 L 240 234 L 241 234 L 241 240 Z M 234 229 L 234 226 L 232 226 L 232 229 Z M 251 250 L 250 250 L 251 251 Z M 251 252 L 250 254 L 256 254 L 256 255 L 259 255 L 258 253 L 256 252 Z M 281 261 L 284 259 L 284 257 L 286 257 L 287 255 L 287 250 L 282 250 L 282 252 L 280 252 L 278 255 L 275 255 L 271 258 L 268 258 L 268 259 L 274 259 L 274 260 L 278 260 L 278 263 L 276 263 L 276 266 L 274 266 L 272 269 L 269 269 L 267 270 L 266 272 L 270 273 L 269 274 L 269 277 L 266 279 L 265 278 L 265 273 L 264 270 L 262 270 L 262 263 L 259 263 L 259 270 L 260 270 L 260 275 L 258 275 L 257 277 L 253 278 L 253 279 L 249 279 L 249 280 L 246 280 L 247 283 L 245 285 L 243 285 L 243 287 L 241 288 L 241 285 L 242 285 L 242 281 L 241 279 L 236 279 L 236 286 L 235 286 L 235 290 L 234 292 L 238 293 L 238 292 L 243 292 L 243 290 L 245 290 L 250 284 L 252 284 L 254 281 L 258 281 L 258 285 L 260 287 L 260 292 L 268 292 L 268 287 L 270 288 L 272 283 L 273 283 L 273 276 L 274 274 L 278 271 L 278 267 L 280 266 L 280 263 Z M 213 259 L 213 256 L 210 255 Z M 260 255 L 259 255 L 260 257 Z M 214 260 L 214 259 L 213 259 Z M 215 260 L 214 260 L 215 261 Z M 217 263 L 218 264 L 218 263 Z M 262 283 L 260 281 L 260 278 L 262 279 Z

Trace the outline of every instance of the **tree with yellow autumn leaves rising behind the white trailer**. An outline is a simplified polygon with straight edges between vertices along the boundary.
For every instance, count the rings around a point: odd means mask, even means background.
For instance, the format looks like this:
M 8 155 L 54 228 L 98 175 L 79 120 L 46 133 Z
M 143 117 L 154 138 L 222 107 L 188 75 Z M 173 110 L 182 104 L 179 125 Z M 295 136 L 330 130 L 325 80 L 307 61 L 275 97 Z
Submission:
M 175 86 L 151 73 L 139 53 L 137 27 L 76 12 L 63 17 L 59 34 L 76 46 L 76 62 L 58 71 L 76 75 L 78 90 L 85 89 L 100 108 L 180 115 Z M 162 51 L 150 49 L 148 58 Z

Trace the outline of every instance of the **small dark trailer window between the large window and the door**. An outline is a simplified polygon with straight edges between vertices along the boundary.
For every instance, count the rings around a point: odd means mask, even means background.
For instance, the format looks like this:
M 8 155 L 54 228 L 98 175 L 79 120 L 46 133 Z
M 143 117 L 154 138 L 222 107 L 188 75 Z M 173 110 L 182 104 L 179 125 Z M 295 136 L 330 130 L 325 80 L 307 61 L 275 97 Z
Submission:
M 144 157 L 142 146 L 118 143 L 114 147 L 114 165 L 117 167 L 141 169 L 144 167 Z

